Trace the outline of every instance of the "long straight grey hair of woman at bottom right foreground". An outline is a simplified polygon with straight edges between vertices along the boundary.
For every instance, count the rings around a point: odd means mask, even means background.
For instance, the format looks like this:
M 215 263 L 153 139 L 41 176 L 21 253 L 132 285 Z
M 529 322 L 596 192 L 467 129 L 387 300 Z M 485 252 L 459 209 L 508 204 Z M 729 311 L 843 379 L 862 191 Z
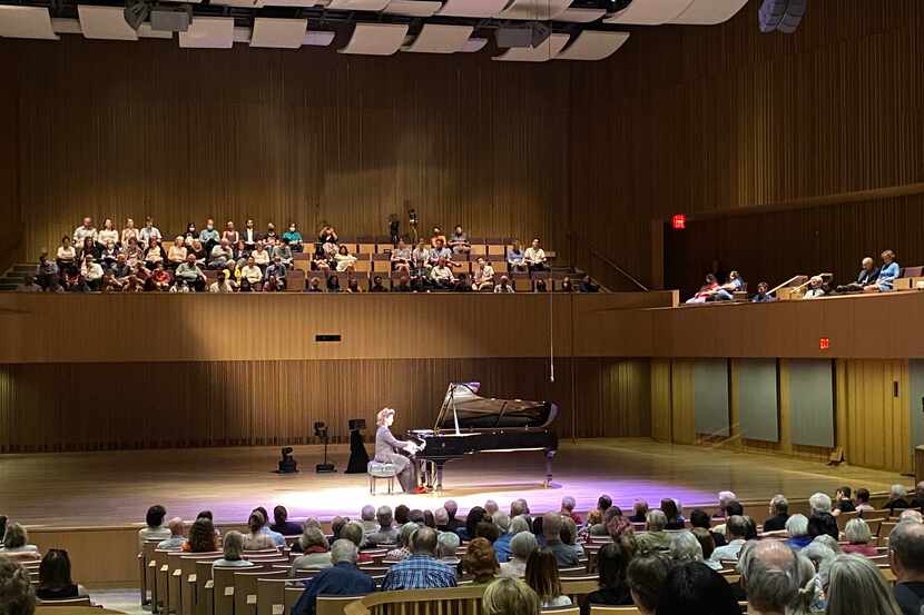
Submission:
M 838 555 L 827 581 L 827 615 L 902 615 L 876 565 L 857 555 Z

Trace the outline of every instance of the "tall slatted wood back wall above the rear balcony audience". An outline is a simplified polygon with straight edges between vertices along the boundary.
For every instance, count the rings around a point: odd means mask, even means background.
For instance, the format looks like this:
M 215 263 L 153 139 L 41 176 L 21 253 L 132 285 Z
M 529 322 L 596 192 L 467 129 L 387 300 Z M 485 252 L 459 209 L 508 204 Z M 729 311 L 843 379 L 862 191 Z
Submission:
M 567 248 L 569 132 L 552 129 L 568 126 L 564 62 L 80 37 L 0 48 L 30 59 L 13 80 L 29 259 L 83 215 L 385 235 L 411 207 L 424 228 Z

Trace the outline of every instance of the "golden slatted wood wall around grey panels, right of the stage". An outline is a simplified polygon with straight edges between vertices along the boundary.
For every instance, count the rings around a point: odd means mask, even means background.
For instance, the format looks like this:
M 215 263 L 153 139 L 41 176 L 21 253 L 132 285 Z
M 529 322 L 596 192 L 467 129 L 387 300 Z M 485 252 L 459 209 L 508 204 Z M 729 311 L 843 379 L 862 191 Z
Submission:
M 670 365 L 667 365 L 667 364 Z M 651 363 L 651 434 L 677 444 L 694 444 L 695 406 L 692 401 L 692 366 L 695 359 L 652 359 Z M 733 383 L 736 361 L 731 361 Z M 741 439 L 730 407 L 733 432 L 723 446 L 740 450 L 780 453 L 816 460 L 827 459 L 832 449 L 793 444 L 790 430 L 789 365 L 779 361 L 779 429 L 780 442 L 763 443 Z M 894 384 L 898 385 L 895 396 Z M 733 385 L 734 386 L 734 385 Z M 671 391 L 671 404 L 663 395 Z M 838 359 L 836 361 L 835 445 L 844 448 L 847 463 L 856 466 L 910 473 L 912 436 L 908 405 L 908 367 L 906 360 Z M 659 398 L 661 399 L 659 401 Z M 733 397 L 734 399 L 734 397 Z M 672 420 L 672 439 L 665 437 L 665 425 Z M 704 442 L 715 446 L 715 440 Z

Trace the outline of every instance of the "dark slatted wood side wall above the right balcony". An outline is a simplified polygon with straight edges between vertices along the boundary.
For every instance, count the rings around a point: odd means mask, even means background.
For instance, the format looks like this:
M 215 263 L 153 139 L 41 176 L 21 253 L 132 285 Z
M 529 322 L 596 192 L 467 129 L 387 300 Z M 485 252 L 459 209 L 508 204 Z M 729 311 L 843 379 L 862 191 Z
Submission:
M 571 156 L 573 230 L 642 280 L 652 259 L 651 218 L 924 180 L 924 7 L 817 2 L 795 34 L 779 37 L 759 32 L 759 4 L 715 28 L 633 31 L 608 60 L 572 68 L 572 105 L 582 111 L 571 115 L 581 142 Z M 788 252 L 814 266 L 828 239 L 799 229 L 844 237 L 849 252 L 862 244 L 854 234 L 876 238 L 859 227 L 891 225 L 892 207 L 872 204 L 843 217 L 797 212 L 787 232 L 753 226 L 729 237 L 717 225 L 701 244 L 694 240 L 690 267 L 699 268 L 697 278 L 714 258 L 745 269 L 734 260 L 743 250 Z M 893 230 L 873 247 L 906 236 L 897 225 Z M 835 252 L 836 265 L 847 267 L 837 272 L 853 274 L 865 251 Z M 578 252 L 580 262 L 586 258 Z M 677 274 L 671 267 L 668 274 Z M 604 271 L 596 264 L 594 274 L 615 284 Z M 776 271 L 745 275 L 756 282 Z

